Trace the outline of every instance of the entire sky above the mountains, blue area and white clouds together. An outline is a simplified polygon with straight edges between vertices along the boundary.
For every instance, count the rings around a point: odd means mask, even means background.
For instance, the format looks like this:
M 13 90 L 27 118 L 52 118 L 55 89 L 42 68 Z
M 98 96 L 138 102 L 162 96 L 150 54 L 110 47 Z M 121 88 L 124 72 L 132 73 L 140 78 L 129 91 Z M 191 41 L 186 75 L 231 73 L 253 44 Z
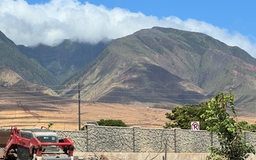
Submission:
M 10 10 L 5 7 L 2 11 L 4 6 L 10 6 Z M 0 21 L 0 31 L 16 43 L 33 46 L 53 45 L 61 38 L 96 43 L 102 38 L 119 38 L 142 28 L 163 26 L 206 33 L 256 57 L 255 6 L 253 0 L 0 0 L 0 18 L 6 19 Z M 71 29 L 74 33 L 68 34 Z M 20 31 L 18 38 L 15 33 Z M 33 41 L 29 41 L 31 37 Z

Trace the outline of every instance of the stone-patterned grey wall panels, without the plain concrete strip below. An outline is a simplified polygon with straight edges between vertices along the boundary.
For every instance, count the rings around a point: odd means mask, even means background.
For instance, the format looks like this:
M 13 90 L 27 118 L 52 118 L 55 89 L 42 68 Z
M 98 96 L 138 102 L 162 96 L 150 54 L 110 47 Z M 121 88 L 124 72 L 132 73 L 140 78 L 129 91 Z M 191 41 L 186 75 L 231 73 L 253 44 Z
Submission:
M 72 139 L 75 150 L 80 152 L 208 153 L 208 146 L 218 146 L 216 137 L 206 131 L 94 125 L 85 128 L 85 131 L 56 132 L 59 137 Z M 256 133 L 243 134 L 256 149 Z

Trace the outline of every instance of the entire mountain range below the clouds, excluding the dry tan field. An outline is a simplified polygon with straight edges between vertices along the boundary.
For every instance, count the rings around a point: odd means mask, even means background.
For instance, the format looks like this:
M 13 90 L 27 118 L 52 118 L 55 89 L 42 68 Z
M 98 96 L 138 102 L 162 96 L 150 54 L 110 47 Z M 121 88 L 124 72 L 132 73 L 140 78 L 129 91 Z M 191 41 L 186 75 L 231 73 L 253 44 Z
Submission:
M 81 100 L 164 108 L 232 89 L 240 111 L 256 112 L 256 59 L 203 33 L 154 27 L 95 45 L 17 47 L 0 32 L 0 56 L 4 86 L 62 85 L 77 98 L 79 83 Z

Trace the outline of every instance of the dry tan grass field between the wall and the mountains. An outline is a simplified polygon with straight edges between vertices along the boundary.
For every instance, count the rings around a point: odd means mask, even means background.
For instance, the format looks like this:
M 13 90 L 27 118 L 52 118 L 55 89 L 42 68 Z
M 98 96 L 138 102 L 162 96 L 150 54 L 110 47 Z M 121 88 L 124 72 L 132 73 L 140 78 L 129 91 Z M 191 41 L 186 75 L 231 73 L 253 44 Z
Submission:
M 80 103 L 81 127 L 86 121 L 98 121 L 100 119 L 121 119 L 130 126 L 143 128 L 162 128 L 166 119 L 165 113 L 171 110 L 151 108 L 150 105 L 122 105 L 107 103 Z M 0 100 L 0 127 L 19 128 L 47 127 L 53 122 L 51 129 L 78 130 L 78 102 L 73 100 L 66 102 L 62 99 L 52 103 L 40 103 L 37 105 L 29 102 L 11 102 Z M 250 123 L 256 122 L 256 117 L 239 117 Z

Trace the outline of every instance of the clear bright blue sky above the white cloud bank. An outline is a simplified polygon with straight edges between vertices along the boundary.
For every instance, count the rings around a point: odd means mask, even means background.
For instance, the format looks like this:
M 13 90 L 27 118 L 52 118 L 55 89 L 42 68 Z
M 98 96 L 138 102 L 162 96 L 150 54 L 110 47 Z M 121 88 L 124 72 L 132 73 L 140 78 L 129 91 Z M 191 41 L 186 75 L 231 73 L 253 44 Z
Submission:
M 81 1 L 85 3 L 85 1 Z M 118 6 L 132 12 L 141 11 L 146 16 L 177 16 L 182 20 L 193 18 L 206 21 L 230 32 L 240 32 L 256 37 L 256 1 L 238 0 L 158 0 L 158 1 L 122 1 L 122 0 L 92 0 L 92 4 L 103 4 L 110 9 Z

